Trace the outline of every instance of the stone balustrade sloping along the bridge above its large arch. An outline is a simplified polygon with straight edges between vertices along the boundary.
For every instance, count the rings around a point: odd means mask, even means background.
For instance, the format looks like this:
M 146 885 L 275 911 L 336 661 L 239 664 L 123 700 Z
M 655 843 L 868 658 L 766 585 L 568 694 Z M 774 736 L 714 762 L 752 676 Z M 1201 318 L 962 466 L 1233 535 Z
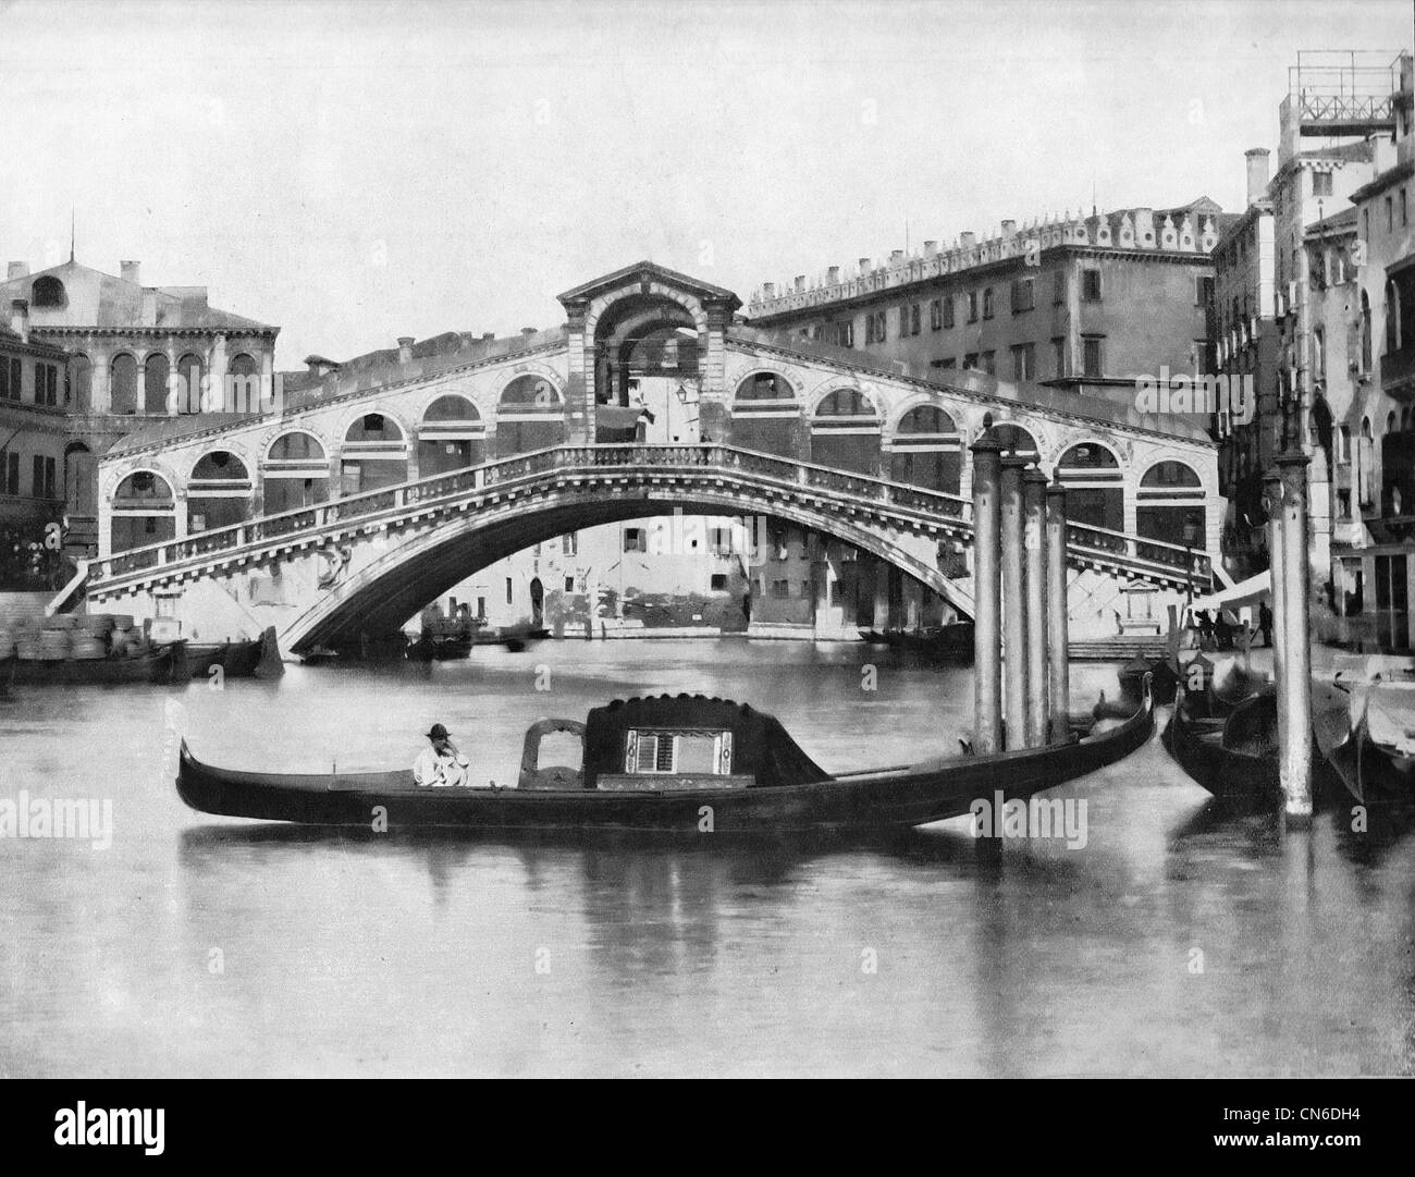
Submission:
M 541 478 L 556 471 L 603 470 L 606 467 L 637 470 L 664 468 L 720 468 L 775 482 L 782 488 L 812 488 L 862 502 L 873 502 L 906 511 L 918 511 L 932 518 L 971 521 L 972 504 L 961 495 L 931 491 L 855 474 L 835 467 L 801 463 L 756 450 L 733 446 L 552 446 L 528 454 L 484 463 L 450 474 L 433 474 L 395 487 L 365 491 L 328 502 L 262 515 L 243 523 L 200 532 L 175 540 L 133 547 L 106 559 L 93 560 L 89 579 L 95 584 L 130 573 L 146 572 L 166 564 L 200 559 L 218 552 L 229 552 L 266 540 L 283 539 L 299 532 L 318 530 L 351 519 L 395 512 L 422 504 L 434 504 L 466 495 L 468 491 L 509 489 L 518 482 Z M 1067 528 L 1071 547 L 1094 552 L 1104 557 L 1124 559 L 1139 564 L 1166 569 L 1189 569 L 1199 580 L 1211 574 L 1206 553 L 1184 549 L 1163 540 L 1112 532 L 1084 523 Z

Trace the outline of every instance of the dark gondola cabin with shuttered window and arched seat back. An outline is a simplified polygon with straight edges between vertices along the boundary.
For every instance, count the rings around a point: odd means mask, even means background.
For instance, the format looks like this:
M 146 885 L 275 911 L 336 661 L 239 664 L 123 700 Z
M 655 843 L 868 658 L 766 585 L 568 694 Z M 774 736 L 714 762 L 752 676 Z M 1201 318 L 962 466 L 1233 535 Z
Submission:
M 579 743 L 579 767 L 553 744 Z M 565 737 L 569 737 L 567 740 Z M 828 779 L 771 716 L 702 695 L 628 699 L 593 709 L 584 723 L 546 719 L 526 731 L 524 789 L 675 792 L 805 785 Z

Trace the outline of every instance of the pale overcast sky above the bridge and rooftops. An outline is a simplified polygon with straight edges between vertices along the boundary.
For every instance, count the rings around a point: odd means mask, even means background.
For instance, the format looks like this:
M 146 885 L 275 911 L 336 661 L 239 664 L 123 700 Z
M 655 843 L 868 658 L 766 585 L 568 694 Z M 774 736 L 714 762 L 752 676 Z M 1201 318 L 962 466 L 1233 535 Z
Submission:
M 279 365 L 736 290 L 1091 204 L 1242 198 L 1298 50 L 1409 0 L 7 3 L 0 253 L 205 284 Z M 3 259 L 0 259 L 3 260 Z

